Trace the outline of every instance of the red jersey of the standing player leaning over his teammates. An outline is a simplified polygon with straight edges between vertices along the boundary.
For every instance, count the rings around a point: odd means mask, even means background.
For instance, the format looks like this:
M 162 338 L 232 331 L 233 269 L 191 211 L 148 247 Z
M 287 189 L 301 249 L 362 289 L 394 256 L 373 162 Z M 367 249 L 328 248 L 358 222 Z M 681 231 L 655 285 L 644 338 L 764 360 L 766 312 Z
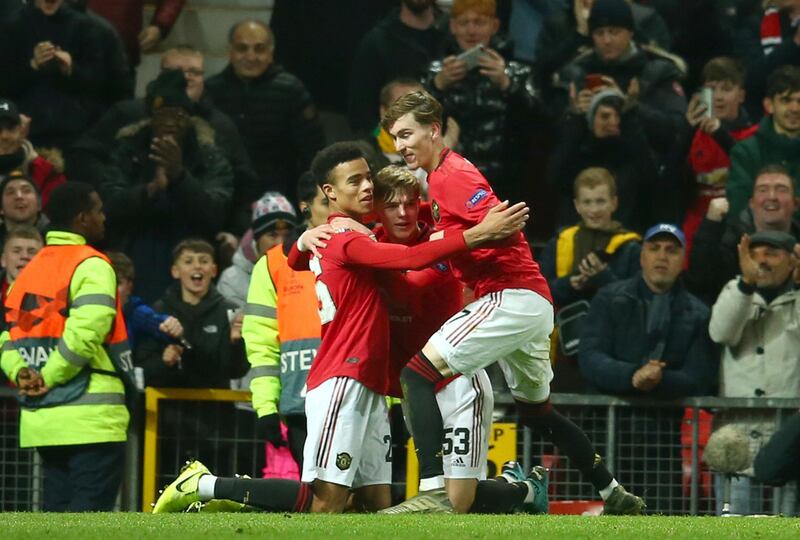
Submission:
M 469 229 L 500 201 L 475 166 L 450 149 L 428 175 L 428 195 L 437 229 Z M 550 288 L 533 260 L 525 235 L 503 247 L 475 249 L 451 259 L 453 273 L 475 291 L 475 297 L 503 289 L 529 289 L 552 303 Z

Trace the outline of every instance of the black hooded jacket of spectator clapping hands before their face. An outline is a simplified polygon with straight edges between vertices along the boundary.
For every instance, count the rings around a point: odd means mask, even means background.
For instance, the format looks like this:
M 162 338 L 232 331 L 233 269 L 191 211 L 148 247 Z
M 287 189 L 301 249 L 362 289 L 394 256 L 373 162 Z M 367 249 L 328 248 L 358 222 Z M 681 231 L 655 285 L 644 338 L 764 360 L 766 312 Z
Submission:
M 196 116 L 183 145 L 183 175 L 153 197 L 146 184 L 155 164 L 149 159 L 150 120 L 119 131 L 100 186 L 108 245 L 124 251 L 136 266 L 136 292 L 146 303 L 169 286 L 172 248 L 190 236 L 213 241 L 224 224 L 233 193 L 233 171 L 214 144 L 214 131 Z

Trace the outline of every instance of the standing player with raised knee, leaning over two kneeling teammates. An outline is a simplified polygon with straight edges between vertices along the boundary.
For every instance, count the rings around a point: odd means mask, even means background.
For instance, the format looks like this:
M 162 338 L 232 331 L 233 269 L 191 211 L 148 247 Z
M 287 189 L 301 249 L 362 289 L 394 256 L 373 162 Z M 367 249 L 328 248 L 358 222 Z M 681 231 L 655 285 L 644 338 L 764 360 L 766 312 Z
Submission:
M 382 121 L 411 169 L 428 173 L 433 217 L 443 230 L 464 230 L 498 200 L 469 161 L 442 139 L 442 106 L 424 91 L 401 97 Z M 522 233 L 451 259 L 455 275 L 476 300 L 451 317 L 401 372 L 408 420 L 420 461 L 420 489 L 444 485 L 442 417 L 435 388 L 442 379 L 499 361 L 520 421 L 550 435 L 595 486 L 609 514 L 639 514 L 645 504 L 614 479 L 578 426 L 550 403 L 550 333 L 553 307 L 547 281 Z

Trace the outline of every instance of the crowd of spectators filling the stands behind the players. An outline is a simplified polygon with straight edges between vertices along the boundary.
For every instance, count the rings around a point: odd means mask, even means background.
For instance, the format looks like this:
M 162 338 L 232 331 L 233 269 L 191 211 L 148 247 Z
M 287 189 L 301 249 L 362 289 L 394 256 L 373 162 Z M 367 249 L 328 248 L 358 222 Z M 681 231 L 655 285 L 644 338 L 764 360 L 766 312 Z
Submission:
M 800 397 L 800 1 L 369 2 L 371 28 L 343 21 L 360 37 L 337 43 L 276 39 L 318 18 L 276 0 L 273 28 L 228 29 L 222 71 L 164 49 L 134 97 L 140 52 L 184 1 L 157 4 L 144 25 L 141 1 L 0 13 L 3 295 L 42 247 L 50 192 L 90 184 L 144 384 L 247 371 L 250 276 L 303 221 L 294 205 L 311 215 L 298 179 L 334 142 L 321 108 L 377 169 L 402 161 L 382 112 L 424 88 L 448 145 L 531 206 L 555 307 L 580 304 L 553 360 L 583 391 Z M 336 90 L 300 66 L 309 51 L 338 62 L 319 66 Z M 775 428 L 723 422 L 758 432 L 754 450 Z

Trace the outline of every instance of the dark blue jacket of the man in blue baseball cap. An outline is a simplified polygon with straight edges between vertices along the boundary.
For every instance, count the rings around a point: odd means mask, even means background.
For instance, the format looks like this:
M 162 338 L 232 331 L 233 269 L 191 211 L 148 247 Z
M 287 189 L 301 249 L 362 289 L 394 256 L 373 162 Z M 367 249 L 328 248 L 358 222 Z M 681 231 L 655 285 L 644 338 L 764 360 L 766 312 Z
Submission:
M 664 377 L 649 395 L 680 398 L 708 395 L 716 380 L 719 354 L 708 335 L 710 311 L 679 281 L 666 332 Z M 645 306 L 652 293 L 641 274 L 598 291 L 583 322 L 578 363 L 590 385 L 610 394 L 638 393 L 631 384 L 655 343 L 646 335 Z

